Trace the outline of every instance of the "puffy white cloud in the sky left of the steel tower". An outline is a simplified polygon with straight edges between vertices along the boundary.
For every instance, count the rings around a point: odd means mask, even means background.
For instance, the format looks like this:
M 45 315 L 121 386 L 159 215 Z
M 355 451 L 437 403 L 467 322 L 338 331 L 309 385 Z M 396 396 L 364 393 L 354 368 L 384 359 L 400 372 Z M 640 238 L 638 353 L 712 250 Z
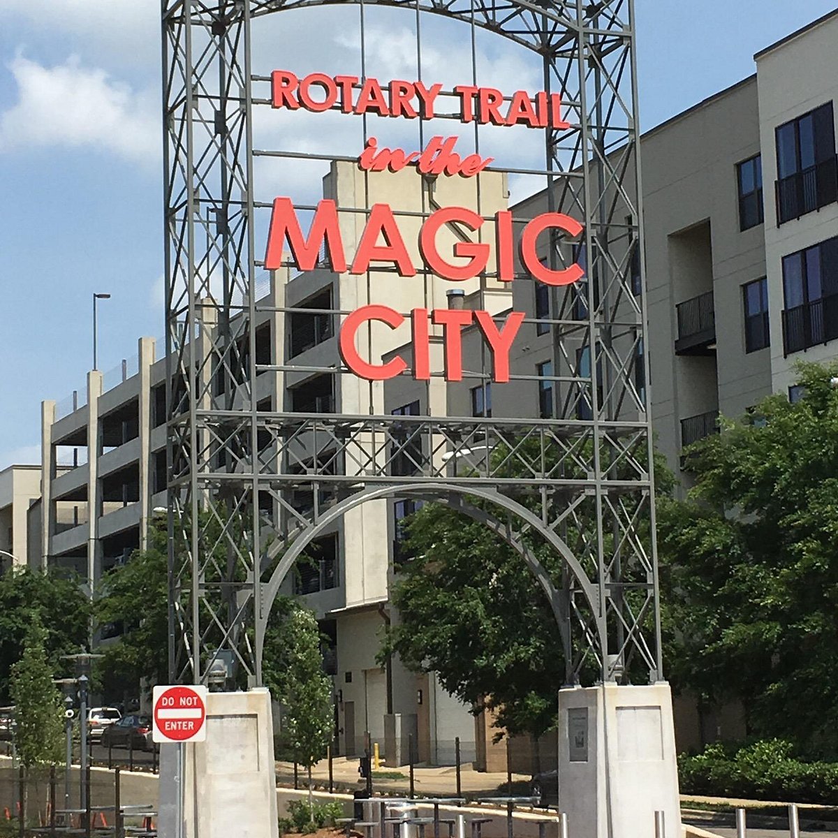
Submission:
M 77 57 L 46 67 L 18 55 L 8 65 L 18 101 L 0 115 L 0 152 L 31 147 L 91 147 L 158 166 L 158 103 L 83 67 Z

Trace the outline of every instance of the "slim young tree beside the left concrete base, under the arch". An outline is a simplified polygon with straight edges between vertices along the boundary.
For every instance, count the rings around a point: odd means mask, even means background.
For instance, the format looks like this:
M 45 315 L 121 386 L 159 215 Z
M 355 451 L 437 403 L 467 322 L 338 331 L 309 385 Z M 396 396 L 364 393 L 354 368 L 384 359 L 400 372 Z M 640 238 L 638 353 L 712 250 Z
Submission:
M 282 704 L 283 740 L 294 761 L 308 770 L 312 811 L 312 766 L 326 756 L 332 741 L 332 681 L 323 672 L 320 632 L 313 613 L 287 600 L 277 607 L 280 613 L 266 650 L 265 682 Z

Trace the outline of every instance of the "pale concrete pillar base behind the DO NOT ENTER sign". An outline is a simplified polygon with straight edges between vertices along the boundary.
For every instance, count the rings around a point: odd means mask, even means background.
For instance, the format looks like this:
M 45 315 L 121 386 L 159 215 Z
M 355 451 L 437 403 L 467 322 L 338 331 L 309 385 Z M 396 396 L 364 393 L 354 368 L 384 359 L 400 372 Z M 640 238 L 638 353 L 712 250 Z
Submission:
M 205 742 L 160 747 L 162 838 L 277 838 L 271 695 L 211 692 Z M 181 778 L 183 781 L 181 782 Z M 178 830 L 178 794 L 184 825 Z

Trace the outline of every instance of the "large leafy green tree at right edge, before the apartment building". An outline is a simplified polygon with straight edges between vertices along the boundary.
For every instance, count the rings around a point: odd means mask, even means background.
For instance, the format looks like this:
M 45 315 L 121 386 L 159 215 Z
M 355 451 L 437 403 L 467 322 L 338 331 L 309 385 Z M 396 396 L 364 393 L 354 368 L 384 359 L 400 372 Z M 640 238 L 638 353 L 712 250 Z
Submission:
M 750 731 L 838 754 L 838 366 L 763 399 L 689 453 L 696 484 L 659 506 L 673 680 L 740 698 Z

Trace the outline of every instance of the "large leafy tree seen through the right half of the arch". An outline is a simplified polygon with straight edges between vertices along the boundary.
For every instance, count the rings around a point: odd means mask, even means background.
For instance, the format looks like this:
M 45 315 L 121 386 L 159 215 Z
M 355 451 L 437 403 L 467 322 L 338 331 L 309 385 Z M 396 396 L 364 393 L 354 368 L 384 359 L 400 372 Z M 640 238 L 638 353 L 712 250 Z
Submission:
M 527 450 L 527 444 L 523 461 L 537 462 L 541 451 Z M 548 448 L 543 456 L 546 471 L 558 468 L 560 452 Z M 502 446 L 492 458 L 495 471 L 521 468 L 522 459 Z M 578 462 L 584 459 L 580 451 Z M 658 464 L 657 488 L 668 492 L 671 473 L 662 458 Z M 562 468 L 567 477 L 586 476 L 574 462 Z M 580 470 L 573 473 L 574 468 Z M 535 500 L 524 496 L 520 502 L 530 506 Z M 644 520 L 640 525 L 648 526 Z M 595 531 L 595 504 L 584 499 L 563 535 L 583 556 Z M 608 543 L 611 537 L 606 534 Z M 561 557 L 538 536 L 525 535 L 525 541 L 561 587 Z M 398 654 L 410 670 L 436 671 L 448 692 L 475 707 L 488 706 L 496 726 L 512 734 L 538 737 L 553 727 L 565 680 L 564 654 L 556 618 L 521 556 L 483 524 L 445 504 L 426 504 L 411 515 L 405 546 L 412 558 L 401 566 L 391 594 L 399 618 L 380 660 Z M 582 672 L 587 681 L 597 675 L 592 667 Z

